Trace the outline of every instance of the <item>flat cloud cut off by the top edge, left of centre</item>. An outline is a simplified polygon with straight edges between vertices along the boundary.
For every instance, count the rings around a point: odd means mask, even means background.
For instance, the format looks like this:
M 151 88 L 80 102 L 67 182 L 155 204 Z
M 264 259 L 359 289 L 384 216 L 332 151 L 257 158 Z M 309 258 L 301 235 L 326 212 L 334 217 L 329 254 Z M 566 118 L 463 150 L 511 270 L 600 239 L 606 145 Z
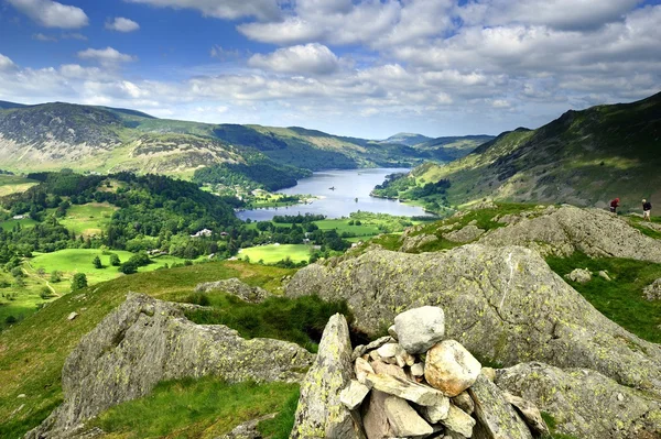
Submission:
M 278 0 L 124 0 L 159 8 L 196 9 L 205 17 L 236 20 L 256 17 L 260 20 L 274 20 L 280 17 Z

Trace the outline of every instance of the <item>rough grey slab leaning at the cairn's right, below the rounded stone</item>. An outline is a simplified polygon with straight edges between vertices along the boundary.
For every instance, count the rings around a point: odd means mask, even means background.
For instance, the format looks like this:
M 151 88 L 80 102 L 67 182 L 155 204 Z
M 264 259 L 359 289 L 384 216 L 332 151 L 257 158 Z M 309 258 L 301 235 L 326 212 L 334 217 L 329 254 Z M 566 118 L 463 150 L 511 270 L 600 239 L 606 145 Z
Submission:
M 468 389 L 475 402 L 475 437 L 484 439 L 532 439 L 528 426 L 502 392 L 485 376 L 478 376 Z

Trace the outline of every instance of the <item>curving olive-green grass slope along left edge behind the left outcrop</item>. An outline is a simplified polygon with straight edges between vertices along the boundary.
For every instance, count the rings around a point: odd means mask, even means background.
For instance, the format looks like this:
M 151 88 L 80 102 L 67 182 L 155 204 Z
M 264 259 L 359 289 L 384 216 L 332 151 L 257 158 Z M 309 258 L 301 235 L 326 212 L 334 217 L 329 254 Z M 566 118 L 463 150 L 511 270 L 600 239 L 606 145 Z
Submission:
M 128 292 L 181 300 L 198 283 L 239 277 L 249 285 L 279 293 L 282 276 L 293 273 L 242 262 L 213 262 L 122 276 L 53 301 L 0 332 L 0 437 L 22 437 L 61 404 L 66 355 L 126 299 Z M 69 321 L 67 316 L 73 311 L 79 316 Z M 18 398 L 20 394 L 25 398 Z

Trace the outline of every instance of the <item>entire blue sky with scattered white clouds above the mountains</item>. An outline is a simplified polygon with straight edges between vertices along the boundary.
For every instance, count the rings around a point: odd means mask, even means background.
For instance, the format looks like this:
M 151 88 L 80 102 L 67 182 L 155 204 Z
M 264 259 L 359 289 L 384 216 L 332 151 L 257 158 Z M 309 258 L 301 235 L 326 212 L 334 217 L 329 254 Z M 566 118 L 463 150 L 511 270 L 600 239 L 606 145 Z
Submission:
M 0 100 L 384 139 L 661 91 L 661 0 L 0 0 Z

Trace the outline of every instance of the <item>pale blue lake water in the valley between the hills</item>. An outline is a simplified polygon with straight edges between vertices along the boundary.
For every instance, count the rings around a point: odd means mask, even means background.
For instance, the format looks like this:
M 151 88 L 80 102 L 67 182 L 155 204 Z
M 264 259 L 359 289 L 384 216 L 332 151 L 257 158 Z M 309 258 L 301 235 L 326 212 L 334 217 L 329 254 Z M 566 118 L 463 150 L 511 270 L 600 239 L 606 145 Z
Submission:
M 279 190 L 280 194 L 315 195 L 323 197 L 311 205 L 245 210 L 237 213 L 241 220 L 268 221 L 277 215 L 325 215 L 328 218 L 348 217 L 361 210 L 376 213 L 389 213 L 402 217 L 426 215 L 421 207 L 403 205 L 395 200 L 370 197 L 376 185 L 380 185 L 386 176 L 393 173 L 408 173 L 405 168 L 373 168 L 324 171 L 314 173 L 312 177 L 299 180 L 299 185 Z M 335 190 L 330 188 L 334 187 Z M 358 201 L 356 201 L 358 198 Z

